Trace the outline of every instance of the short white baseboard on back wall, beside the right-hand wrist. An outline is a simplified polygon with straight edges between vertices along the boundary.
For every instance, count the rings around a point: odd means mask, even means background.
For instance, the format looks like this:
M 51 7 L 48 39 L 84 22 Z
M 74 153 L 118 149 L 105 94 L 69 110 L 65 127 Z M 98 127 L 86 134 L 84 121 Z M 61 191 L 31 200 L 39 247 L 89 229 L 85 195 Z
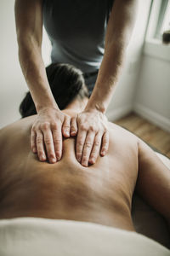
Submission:
M 109 110 L 106 113 L 106 116 L 109 121 L 115 121 L 116 119 L 121 119 L 123 116 L 131 113 L 133 110 L 133 106 L 131 104 L 122 106 L 121 108 L 114 108 Z

